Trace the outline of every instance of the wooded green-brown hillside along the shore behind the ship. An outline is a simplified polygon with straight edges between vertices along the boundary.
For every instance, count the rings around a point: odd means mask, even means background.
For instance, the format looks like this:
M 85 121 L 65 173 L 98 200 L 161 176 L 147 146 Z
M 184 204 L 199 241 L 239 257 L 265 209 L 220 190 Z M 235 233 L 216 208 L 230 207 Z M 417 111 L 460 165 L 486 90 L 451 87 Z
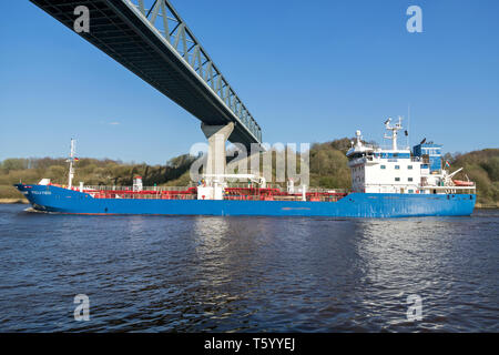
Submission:
M 345 138 L 326 143 L 315 143 L 310 148 L 310 186 L 327 189 L 348 189 L 350 171 L 345 156 L 350 148 L 350 139 Z M 275 153 L 275 152 L 274 152 Z M 85 185 L 131 185 L 133 176 L 141 175 L 146 186 L 189 185 L 190 166 L 196 158 L 189 154 L 176 156 L 165 165 L 145 163 L 123 163 L 113 160 L 81 159 L 77 162 L 74 183 L 83 181 Z M 446 154 L 451 164 L 450 171 L 465 168 L 457 179 L 477 183 L 478 202 L 482 205 L 499 206 L 499 149 L 486 149 L 466 154 Z M 275 155 L 273 155 L 273 175 L 275 176 Z M 298 162 L 299 171 L 299 162 Z M 12 184 L 37 183 L 49 178 L 53 183 L 65 184 L 68 163 L 65 159 L 7 159 L 0 162 L 0 199 L 19 199 Z

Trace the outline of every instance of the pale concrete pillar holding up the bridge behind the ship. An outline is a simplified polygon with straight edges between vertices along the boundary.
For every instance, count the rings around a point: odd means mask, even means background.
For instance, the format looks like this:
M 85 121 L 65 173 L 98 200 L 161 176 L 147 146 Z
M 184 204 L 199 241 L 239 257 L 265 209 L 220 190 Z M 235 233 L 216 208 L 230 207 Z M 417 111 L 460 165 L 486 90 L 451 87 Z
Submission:
M 206 171 L 204 173 L 206 175 L 225 174 L 225 143 L 227 142 L 232 131 L 234 131 L 234 122 L 226 125 L 207 125 L 202 123 L 201 130 L 208 140 L 207 163 Z M 208 178 L 206 180 L 213 181 L 213 178 Z M 218 183 L 223 183 L 223 178 L 218 178 L 217 180 Z

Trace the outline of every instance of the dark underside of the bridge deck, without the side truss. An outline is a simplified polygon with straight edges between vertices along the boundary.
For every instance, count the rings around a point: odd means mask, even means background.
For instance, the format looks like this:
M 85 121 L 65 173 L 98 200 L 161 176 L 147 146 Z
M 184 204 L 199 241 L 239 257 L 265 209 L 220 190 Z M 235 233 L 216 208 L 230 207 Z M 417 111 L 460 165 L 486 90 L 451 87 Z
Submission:
M 234 122 L 231 142 L 249 148 L 257 138 L 237 121 L 223 101 L 211 92 L 197 74 L 155 36 L 123 1 L 30 0 L 73 30 L 78 6 L 90 10 L 90 32 L 79 33 L 160 92 L 208 125 Z

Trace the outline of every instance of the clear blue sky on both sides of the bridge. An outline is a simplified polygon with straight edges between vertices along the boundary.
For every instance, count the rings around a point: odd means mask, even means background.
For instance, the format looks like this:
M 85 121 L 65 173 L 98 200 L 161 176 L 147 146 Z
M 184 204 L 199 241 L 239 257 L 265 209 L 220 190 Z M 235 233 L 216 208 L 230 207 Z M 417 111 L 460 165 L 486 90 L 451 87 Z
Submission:
M 380 141 L 411 108 L 413 143 L 499 148 L 497 0 L 172 0 L 265 142 Z M 422 33 L 406 10 L 422 9 Z M 24 0 L 0 12 L 0 160 L 164 163 L 200 121 Z

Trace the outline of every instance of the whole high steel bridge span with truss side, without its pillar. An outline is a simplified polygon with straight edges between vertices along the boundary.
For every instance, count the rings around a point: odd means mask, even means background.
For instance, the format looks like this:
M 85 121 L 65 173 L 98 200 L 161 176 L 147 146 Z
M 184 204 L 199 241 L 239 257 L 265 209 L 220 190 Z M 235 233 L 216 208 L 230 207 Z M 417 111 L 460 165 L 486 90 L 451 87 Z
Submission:
M 234 123 L 228 140 L 262 143 L 262 130 L 167 0 L 30 0 L 73 30 L 84 6 L 90 31 L 79 33 L 207 125 Z

